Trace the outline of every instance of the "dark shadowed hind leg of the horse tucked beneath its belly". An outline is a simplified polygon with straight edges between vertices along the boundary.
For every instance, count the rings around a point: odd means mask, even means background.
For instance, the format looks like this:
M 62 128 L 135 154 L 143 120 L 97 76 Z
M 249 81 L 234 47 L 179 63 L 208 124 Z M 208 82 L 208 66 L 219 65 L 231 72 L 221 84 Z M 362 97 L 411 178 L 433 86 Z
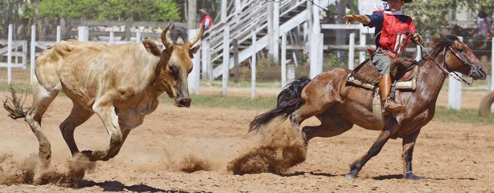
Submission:
M 335 114 L 332 109 L 316 117 L 321 121 L 319 126 L 305 126 L 302 131 L 306 136 L 306 143 L 314 137 L 333 137 L 352 129 L 353 123 L 346 120 L 341 114 Z

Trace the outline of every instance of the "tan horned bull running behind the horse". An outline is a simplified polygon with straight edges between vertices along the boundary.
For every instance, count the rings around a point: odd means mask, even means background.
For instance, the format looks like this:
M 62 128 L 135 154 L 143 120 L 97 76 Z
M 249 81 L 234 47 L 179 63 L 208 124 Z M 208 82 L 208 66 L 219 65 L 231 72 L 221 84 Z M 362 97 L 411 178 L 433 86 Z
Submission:
M 39 156 L 45 163 L 51 156 L 50 142 L 41 130 L 41 119 L 59 92 L 74 103 L 60 131 L 72 155 L 79 153 L 74 130 L 96 113 L 110 135 L 107 148 L 83 151 L 91 161 L 108 161 L 120 151 L 131 129 L 141 125 L 146 115 L 158 106 L 158 97 L 166 93 L 177 107 L 189 107 L 191 99 L 187 76 L 192 70 L 193 47 L 204 32 L 181 46 L 161 35 L 165 50 L 153 41 L 121 45 L 77 40 L 61 41 L 43 51 L 36 60 L 33 80 L 33 105 L 23 112 L 18 101 L 4 107 L 13 119 L 25 117 L 40 143 Z M 12 98 L 16 98 L 15 91 Z

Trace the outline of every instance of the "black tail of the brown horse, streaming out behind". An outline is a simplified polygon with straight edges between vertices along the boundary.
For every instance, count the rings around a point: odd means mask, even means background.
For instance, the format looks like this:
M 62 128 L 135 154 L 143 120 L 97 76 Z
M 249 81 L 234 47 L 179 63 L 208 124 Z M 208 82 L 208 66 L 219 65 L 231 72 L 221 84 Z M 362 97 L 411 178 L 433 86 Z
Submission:
M 254 120 L 250 122 L 248 131 L 257 131 L 263 125 L 278 116 L 283 115 L 284 119 L 287 119 L 291 113 L 295 112 L 295 110 L 301 106 L 302 97 L 300 94 L 305 85 L 309 84 L 310 81 L 311 79 L 308 77 L 293 79 L 291 83 L 283 89 L 280 95 L 278 95 L 276 108 L 256 116 Z

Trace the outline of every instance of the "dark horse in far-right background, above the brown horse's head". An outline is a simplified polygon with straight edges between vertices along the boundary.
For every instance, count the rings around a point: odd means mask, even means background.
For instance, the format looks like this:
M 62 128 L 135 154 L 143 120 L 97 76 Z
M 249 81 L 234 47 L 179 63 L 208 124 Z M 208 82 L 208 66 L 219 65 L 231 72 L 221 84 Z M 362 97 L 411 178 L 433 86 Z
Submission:
M 489 38 L 481 35 L 472 34 L 472 30 L 454 25 L 451 29 L 451 34 L 462 36 L 463 43 L 470 48 L 473 48 L 473 53 L 479 58 L 486 55 L 491 55 L 492 43 Z

